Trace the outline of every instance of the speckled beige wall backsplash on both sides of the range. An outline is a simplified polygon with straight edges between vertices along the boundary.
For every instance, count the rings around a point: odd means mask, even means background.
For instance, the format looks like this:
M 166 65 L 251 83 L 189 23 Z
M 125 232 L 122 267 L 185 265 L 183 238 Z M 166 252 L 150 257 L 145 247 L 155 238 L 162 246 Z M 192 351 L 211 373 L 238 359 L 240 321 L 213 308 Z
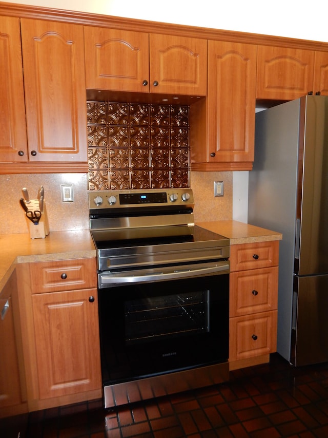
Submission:
M 224 182 L 223 197 L 214 197 L 214 181 Z M 190 182 L 195 222 L 232 219 L 232 172 L 191 172 Z M 61 202 L 61 184 L 73 185 L 74 202 Z M 28 233 L 19 199 L 22 187 L 28 188 L 32 199 L 40 185 L 45 188 L 50 232 L 89 230 L 87 174 L 0 175 L 0 234 Z

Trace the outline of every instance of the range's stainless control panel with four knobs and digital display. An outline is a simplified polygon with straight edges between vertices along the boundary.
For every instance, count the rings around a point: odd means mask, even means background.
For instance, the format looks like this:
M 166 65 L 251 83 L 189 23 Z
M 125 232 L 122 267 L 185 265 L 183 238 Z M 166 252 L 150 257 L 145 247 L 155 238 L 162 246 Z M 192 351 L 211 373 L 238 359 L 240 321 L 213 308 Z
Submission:
M 191 188 L 89 191 L 90 210 L 99 208 L 127 208 L 142 206 L 193 206 Z

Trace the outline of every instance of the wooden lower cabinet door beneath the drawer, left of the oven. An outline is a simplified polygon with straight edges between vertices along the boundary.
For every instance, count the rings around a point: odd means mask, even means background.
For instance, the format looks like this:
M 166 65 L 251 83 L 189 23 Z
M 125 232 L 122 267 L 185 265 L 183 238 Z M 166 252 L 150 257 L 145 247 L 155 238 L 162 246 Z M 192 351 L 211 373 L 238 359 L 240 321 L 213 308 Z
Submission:
M 39 398 L 99 389 L 97 290 L 36 294 L 32 305 Z

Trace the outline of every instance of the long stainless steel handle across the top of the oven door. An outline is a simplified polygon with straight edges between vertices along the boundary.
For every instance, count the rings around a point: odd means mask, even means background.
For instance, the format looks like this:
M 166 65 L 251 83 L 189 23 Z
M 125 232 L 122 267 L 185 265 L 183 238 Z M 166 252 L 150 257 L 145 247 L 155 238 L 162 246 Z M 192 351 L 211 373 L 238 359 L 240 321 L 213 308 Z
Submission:
M 117 283 L 141 283 L 146 281 L 161 281 L 161 280 L 171 280 L 171 279 L 180 279 L 187 277 L 200 277 L 202 275 L 207 274 L 215 274 L 215 273 L 224 273 L 229 274 L 230 264 L 224 263 L 217 266 L 212 266 L 211 268 L 200 268 L 193 270 L 178 270 L 176 269 L 174 272 L 169 273 L 150 273 L 145 275 L 121 275 L 116 276 L 115 274 L 101 274 L 99 275 L 99 280 L 101 286 L 105 284 L 117 284 Z

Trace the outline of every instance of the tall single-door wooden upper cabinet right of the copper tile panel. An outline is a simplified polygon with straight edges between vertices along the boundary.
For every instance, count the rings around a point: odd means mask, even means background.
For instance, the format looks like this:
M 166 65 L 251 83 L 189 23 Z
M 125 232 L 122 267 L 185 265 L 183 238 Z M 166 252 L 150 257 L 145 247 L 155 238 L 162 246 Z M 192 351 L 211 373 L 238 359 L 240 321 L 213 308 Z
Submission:
M 256 46 L 209 41 L 208 50 L 207 104 L 190 107 L 192 169 L 251 170 Z

